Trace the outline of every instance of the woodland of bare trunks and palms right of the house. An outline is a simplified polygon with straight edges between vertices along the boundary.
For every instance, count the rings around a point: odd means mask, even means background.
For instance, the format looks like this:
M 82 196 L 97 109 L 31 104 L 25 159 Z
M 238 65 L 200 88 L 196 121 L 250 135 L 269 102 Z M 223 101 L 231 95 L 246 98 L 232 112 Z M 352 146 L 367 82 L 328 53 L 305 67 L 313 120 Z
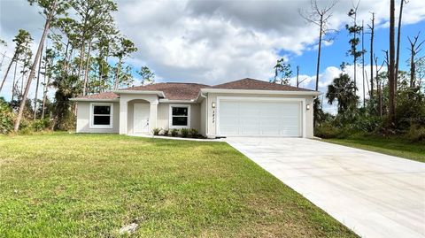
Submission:
M 321 45 L 324 41 L 335 41 L 336 30 L 329 27 L 332 9 L 336 1 L 321 6 L 317 0 L 311 1 L 309 11 L 300 15 L 319 28 L 318 55 L 316 64 L 315 89 L 319 90 Z M 400 135 L 413 141 L 425 141 L 425 56 L 420 56 L 422 45 L 420 32 L 406 36 L 409 45 L 402 45 L 402 17 L 405 0 L 399 2 L 398 27 L 396 37 L 394 0 L 390 0 L 390 49 L 375 52 L 376 14 L 370 19 L 358 19 L 360 1 L 347 11 L 349 23 L 345 29 L 350 35 L 347 56 L 351 62 L 341 63 L 341 73 L 328 85 L 324 97 L 314 100 L 314 129 L 316 136 L 323 138 L 347 137 L 352 134 Z M 366 37 L 365 37 L 366 35 Z M 367 39 L 368 38 L 368 39 Z M 368 49 L 367 49 L 368 47 Z M 409 71 L 399 70 L 400 51 L 408 50 L 410 58 L 406 61 Z M 381 56 L 381 57 L 380 57 Z M 368 58 L 368 60 L 367 60 Z M 365 64 L 369 63 L 369 68 Z M 347 73 L 348 65 L 353 67 L 352 77 Z M 361 75 L 357 68 L 361 67 Z M 298 79 L 296 86 L 304 81 Z M 274 65 L 274 83 L 289 84 L 293 73 L 290 64 L 283 58 Z M 361 80 L 361 81 L 360 81 Z M 359 85 L 362 92 L 359 92 Z M 358 95 L 362 95 L 360 100 Z M 323 102 L 325 101 L 325 102 Z M 336 104 L 337 113 L 332 115 L 323 111 L 323 104 Z

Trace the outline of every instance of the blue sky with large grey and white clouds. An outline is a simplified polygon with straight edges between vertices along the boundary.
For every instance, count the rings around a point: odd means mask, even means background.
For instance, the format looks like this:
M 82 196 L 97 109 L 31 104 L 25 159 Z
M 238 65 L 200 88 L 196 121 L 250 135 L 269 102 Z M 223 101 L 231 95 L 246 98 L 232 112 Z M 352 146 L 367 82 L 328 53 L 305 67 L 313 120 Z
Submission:
M 300 87 L 314 88 L 319 29 L 308 24 L 299 14 L 310 11 L 309 0 L 117 0 L 117 3 L 119 11 L 114 13 L 117 26 L 138 48 L 127 63 L 135 70 L 147 65 L 156 74 L 157 82 L 214 85 L 247 77 L 269 81 L 274 76 L 276 60 L 285 58 L 294 73 L 299 65 L 299 78 L 305 80 Z M 330 1 L 319 0 L 318 3 L 323 6 Z M 326 42 L 322 48 L 319 90 L 323 93 L 341 73 L 339 65 L 343 61 L 352 62 L 347 56 L 350 36 L 344 26 L 351 21 L 347 12 L 353 4 L 357 2 L 339 0 L 332 9 L 329 28 L 338 30 L 338 33 L 334 41 Z M 380 62 L 383 60 L 382 50 L 387 50 L 389 45 L 389 4 L 389 0 L 362 0 L 358 9 L 358 24 L 363 20 L 365 25 L 367 51 L 370 35 L 366 26 L 370 24 L 370 12 L 375 12 L 375 53 Z M 396 0 L 396 16 L 398 5 Z M 7 47 L 0 47 L 0 53 L 12 57 L 12 38 L 19 28 L 29 31 L 35 42 L 39 41 L 44 22 L 39 11 L 26 0 L 0 0 L 0 38 L 8 42 Z M 400 68 L 407 70 L 407 36 L 412 38 L 422 31 L 420 38 L 425 39 L 425 1 L 409 0 L 404 7 L 402 23 Z M 35 46 L 33 48 L 35 51 Z M 369 69 L 368 54 L 365 61 Z M 2 79 L 8 63 L 9 59 L 4 58 L 0 72 Z M 137 80 L 139 76 L 135 70 Z M 346 71 L 352 75 L 353 65 Z M 359 75 L 359 96 L 362 97 L 360 66 L 356 72 Z M 295 85 L 295 75 L 290 83 Z M 0 96 L 10 99 L 11 84 L 12 79 L 8 79 Z M 34 97 L 34 88 L 33 84 L 30 98 Z M 324 109 L 336 110 L 326 102 Z

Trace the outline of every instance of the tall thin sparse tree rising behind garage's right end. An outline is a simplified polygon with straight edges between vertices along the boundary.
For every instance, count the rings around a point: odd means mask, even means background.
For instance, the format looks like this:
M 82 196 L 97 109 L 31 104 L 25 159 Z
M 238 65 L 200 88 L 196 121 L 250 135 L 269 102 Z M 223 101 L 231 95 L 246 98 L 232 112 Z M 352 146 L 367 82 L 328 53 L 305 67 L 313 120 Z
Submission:
M 317 52 L 317 64 L 316 64 L 316 91 L 319 90 L 319 72 L 321 68 L 321 42 L 324 40 L 324 37 L 330 35 L 332 32 L 336 32 L 334 29 L 329 29 L 329 19 L 332 17 L 332 8 L 335 6 L 336 1 L 332 1 L 327 6 L 320 7 L 317 4 L 317 0 L 310 1 L 310 12 L 303 13 L 299 11 L 299 14 L 302 18 L 306 19 L 308 22 L 319 27 L 319 42 L 318 42 L 318 52 Z M 331 39 L 328 39 L 331 41 Z

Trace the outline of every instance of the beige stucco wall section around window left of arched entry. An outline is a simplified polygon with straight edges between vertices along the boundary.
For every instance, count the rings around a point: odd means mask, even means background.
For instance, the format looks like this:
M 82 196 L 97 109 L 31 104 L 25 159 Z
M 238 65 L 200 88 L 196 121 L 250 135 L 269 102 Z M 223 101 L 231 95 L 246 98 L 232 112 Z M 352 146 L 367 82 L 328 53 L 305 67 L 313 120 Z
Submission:
M 119 133 L 120 132 L 120 104 L 112 103 L 112 128 L 90 128 L 90 104 L 94 102 L 77 103 L 77 133 Z M 103 104 L 103 103 L 100 103 Z

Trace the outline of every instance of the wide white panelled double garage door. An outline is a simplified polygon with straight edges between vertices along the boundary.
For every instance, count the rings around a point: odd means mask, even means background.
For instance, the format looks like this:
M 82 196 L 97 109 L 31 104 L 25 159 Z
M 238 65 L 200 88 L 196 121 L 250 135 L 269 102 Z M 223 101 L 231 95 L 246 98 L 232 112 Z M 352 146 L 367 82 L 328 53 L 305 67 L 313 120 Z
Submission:
M 301 136 L 301 103 L 220 100 L 219 134 Z

